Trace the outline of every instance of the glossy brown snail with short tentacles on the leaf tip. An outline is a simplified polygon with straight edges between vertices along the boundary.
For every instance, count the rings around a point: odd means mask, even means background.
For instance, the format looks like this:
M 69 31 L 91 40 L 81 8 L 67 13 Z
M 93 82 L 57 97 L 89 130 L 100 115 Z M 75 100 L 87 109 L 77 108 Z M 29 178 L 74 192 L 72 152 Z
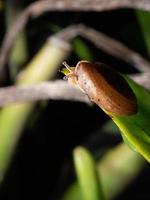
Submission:
M 103 63 L 79 61 L 69 70 L 66 78 L 77 85 L 91 101 L 108 113 L 128 116 L 137 113 L 137 100 L 132 89 L 121 74 Z

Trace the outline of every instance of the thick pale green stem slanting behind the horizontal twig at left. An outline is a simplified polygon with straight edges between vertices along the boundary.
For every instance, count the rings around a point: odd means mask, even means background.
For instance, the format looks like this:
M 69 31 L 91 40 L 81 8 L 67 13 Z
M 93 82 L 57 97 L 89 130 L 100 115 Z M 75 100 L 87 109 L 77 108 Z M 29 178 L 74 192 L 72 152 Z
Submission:
M 68 56 L 69 48 L 61 40 L 48 41 L 31 63 L 18 76 L 16 84 L 32 84 L 50 79 L 62 61 Z M 0 179 L 2 180 L 12 159 L 15 147 L 35 103 L 17 103 L 2 108 L 0 113 Z

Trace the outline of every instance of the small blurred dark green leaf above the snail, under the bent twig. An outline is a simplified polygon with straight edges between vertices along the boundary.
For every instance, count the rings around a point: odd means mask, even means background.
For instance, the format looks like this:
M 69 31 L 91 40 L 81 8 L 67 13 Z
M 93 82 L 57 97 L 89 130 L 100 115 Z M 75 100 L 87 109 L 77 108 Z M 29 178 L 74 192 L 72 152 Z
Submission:
M 92 52 L 83 40 L 75 38 L 73 40 L 73 49 L 80 60 L 93 60 Z

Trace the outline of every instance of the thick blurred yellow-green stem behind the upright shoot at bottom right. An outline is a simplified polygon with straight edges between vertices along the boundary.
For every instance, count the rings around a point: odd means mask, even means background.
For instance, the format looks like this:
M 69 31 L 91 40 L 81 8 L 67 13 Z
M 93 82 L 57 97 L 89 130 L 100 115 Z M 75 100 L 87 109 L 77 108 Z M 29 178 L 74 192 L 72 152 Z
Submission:
M 138 153 L 131 151 L 123 143 L 107 152 L 104 158 L 97 163 L 105 198 L 114 199 L 134 180 L 145 163 Z M 79 184 L 72 184 L 62 200 L 83 200 Z

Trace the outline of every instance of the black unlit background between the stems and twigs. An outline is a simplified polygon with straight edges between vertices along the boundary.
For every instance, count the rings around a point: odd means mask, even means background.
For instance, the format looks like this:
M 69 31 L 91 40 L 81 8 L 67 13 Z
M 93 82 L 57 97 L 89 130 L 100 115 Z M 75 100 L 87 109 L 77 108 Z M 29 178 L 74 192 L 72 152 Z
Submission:
M 0 14 L 0 38 L 4 34 L 4 14 Z M 111 12 L 51 12 L 27 24 L 30 58 L 40 49 L 48 36 L 54 33 L 53 25 L 64 28 L 84 23 L 122 41 L 131 49 L 147 57 L 140 27 L 134 11 Z M 105 54 L 84 40 L 94 61 L 115 66 L 123 73 L 138 71 L 127 63 Z M 75 52 L 69 63 L 75 65 L 80 58 Z M 63 76 L 58 73 L 56 78 Z M 7 85 L 12 80 L 7 78 Z M 37 113 L 37 114 L 35 114 Z M 20 138 L 15 157 L 0 189 L 0 200 L 51 199 L 57 200 L 67 185 L 74 180 L 72 150 L 77 145 L 88 147 L 93 154 L 110 148 L 122 139 L 119 134 L 98 132 L 108 117 L 95 105 L 68 101 L 37 103 Z M 149 200 L 149 166 L 116 200 Z

